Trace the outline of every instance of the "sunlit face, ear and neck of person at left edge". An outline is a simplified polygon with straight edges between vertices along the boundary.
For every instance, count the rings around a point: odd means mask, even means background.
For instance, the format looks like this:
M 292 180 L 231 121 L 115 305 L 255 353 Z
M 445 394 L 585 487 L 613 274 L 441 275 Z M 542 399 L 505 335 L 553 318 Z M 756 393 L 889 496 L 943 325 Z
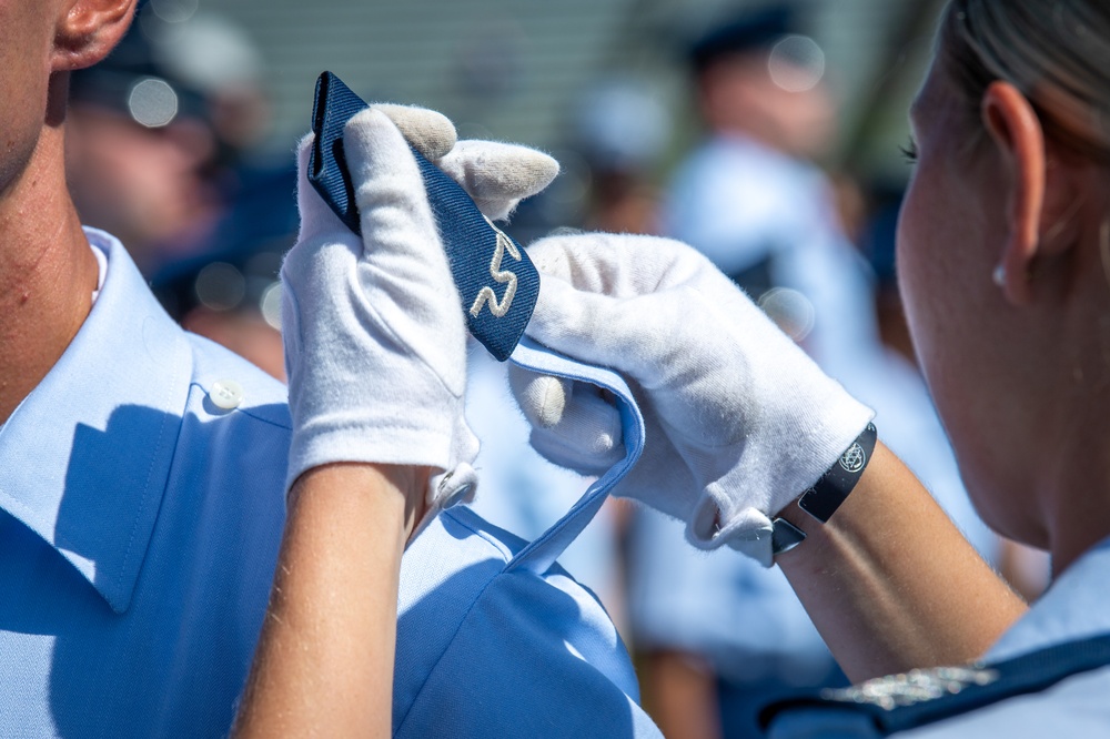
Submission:
M 133 0 L 0 0 L 0 422 L 84 321 L 97 262 L 65 189 L 70 70 L 103 58 Z

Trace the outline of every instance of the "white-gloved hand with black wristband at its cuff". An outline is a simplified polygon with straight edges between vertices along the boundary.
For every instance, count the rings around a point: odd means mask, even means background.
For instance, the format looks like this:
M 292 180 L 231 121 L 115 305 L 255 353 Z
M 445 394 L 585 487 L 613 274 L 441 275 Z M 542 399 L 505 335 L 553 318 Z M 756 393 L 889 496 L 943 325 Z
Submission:
M 543 282 L 527 334 L 617 370 L 644 412 L 644 454 L 614 494 L 685 520 L 695 546 L 769 567 L 771 516 L 874 413 L 685 244 L 584 234 L 528 254 Z M 617 412 L 591 386 L 519 370 L 511 382 L 545 457 L 598 474 L 622 456 Z

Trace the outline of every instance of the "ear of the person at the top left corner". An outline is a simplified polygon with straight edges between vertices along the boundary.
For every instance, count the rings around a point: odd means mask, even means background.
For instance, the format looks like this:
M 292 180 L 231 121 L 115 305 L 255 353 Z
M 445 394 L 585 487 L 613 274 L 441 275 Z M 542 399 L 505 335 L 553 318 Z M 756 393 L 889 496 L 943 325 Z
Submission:
M 63 0 L 54 27 L 54 72 L 91 67 L 131 26 L 138 0 Z

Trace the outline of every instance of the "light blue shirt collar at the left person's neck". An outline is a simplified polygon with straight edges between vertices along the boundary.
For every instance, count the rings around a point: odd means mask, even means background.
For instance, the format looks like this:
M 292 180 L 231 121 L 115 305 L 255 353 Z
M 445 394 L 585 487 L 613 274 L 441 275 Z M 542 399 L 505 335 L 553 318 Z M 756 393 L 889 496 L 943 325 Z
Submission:
M 0 507 L 123 613 L 169 478 L 192 354 L 123 246 L 85 235 L 108 257 L 103 290 L 0 427 Z

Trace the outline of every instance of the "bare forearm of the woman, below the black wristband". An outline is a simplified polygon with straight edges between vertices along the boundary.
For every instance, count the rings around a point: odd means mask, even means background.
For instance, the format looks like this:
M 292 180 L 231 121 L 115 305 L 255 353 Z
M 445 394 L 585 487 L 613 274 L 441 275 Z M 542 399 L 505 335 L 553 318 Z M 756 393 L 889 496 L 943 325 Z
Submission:
M 971 661 L 1026 610 L 914 475 L 881 444 L 827 524 L 778 558 L 854 681 Z

